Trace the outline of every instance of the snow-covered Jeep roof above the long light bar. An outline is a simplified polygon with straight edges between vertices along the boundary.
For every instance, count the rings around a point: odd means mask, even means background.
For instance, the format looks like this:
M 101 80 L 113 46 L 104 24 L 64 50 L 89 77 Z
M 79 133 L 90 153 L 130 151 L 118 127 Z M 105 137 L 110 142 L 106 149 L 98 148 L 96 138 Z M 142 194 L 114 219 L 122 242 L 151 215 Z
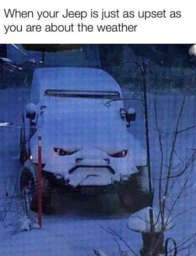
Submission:
M 117 91 L 118 83 L 104 70 L 85 67 L 49 67 L 35 69 L 31 101 L 37 104 L 45 90 Z

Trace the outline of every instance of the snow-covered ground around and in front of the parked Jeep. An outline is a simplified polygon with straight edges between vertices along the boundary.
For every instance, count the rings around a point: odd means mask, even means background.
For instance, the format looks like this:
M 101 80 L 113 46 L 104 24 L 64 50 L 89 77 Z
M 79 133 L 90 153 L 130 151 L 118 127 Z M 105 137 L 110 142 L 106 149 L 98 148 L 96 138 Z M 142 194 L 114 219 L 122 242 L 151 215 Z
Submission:
M 124 90 L 124 96 L 129 97 L 130 92 Z M 181 107 L 183 94 L 174 91 L 170 93 L 158 92 L 156 95 L 158 121 L 166 132 L 173 132 L 176 118 Z M 153 108 L 154 95 L 148 95 L 151 163 L 153 177 L 158 177 L 160 154 L 158 134 L 155 127 L 155 115 Z M 0 90 L 0 121 L 20 123 L 21 113 L 28 101 L 26 89 Z M 114 103 L 115 104 L 115 103 Z M 126 106 L 135 107 L 137 112 L 136 122 L 131 125 L 134 136 L 142 141 L 145 146 L 143 106 L 140 101 L 126 101 Z M 187 95 L 180 129 L 196 124 L 196 96 Z M 121 237 L 139 254 L 141 248 L 141 235 L 132 232 L 127 228 L 128 215 L 121 207 L 118 199 L 113 195 L 111 200 L 98 198 L 94 202 L 85 199 L 73 203 L 71 199 L 60 200 L 57 204 L 63 204 L 58 213 L 43 217 L 43 229 L 31 230 L 28 232 L 14 232 L 16 217 L 21 211 L 19 195 L 20 164 L 18 163 L 18 140 L 20 130 L 17 128 L 0 127 L 0 207 L 5 209 L 8 215 L 1 215 L 5 218 L 5 224 L 0 224 L 0 248 L 1 254 L 5 256 L 92 256 L 93 248 L 101 249 L 108 256 L 118 256 L 118 244 L 115 237 L 103 230 L 104 228 L 116 230 Z M 164 137 L 164 153 L 168 156 L 171 147 L 171 135 Z M 183 148 L 196 148 L 196 129 L 189 129 L 179 135 L 176 151 L 183 159 L 190 155 L 189 150 Z M 167 160 L 167 158 L 166 158 Z M 179 182 L 183 181 L 183 177 Z M 196 173 L 191 176 L 191 183 L 196 183 Z M 157 182 L 155 180 L 155 191 Z M 179 204 L 173 212 L 173 216 L 183 212 L 175 220 L 175 226 L 166 233 L 177 242 L 185 240 L 192 233 L 196 232 L 196 208 L 195 196 L 196 186 L 191 186 L 186 194 L 180 199 Z M 174 187 L 172 197 L 178 187 Z M 155 193 L 156 195 L 157 193 Z M 9 199 L 13 197 L 13 199 Z M 58 200 L 57 200 L 58 201 Z M 110 202 L 110 204 L 109 204 Z M 155 197 L 155 204 L 157 198 Z M 169 201 L 170 202 L 170 201 Z M 95 205 L 96 204 L 96 205 Z M 170 203 L 169 203 L 170 204 Z M 187 211 L 189 208 L 191 211 Z M 13 212 L 13 209 L 16 212 Z M 33 214 L 35 218 L 36 215 Z M 117 238 L 118 240 L 118 238 Z M 190 241 L 191 243 L 191 241 Z M 127 249 L 121 242 L 123 249 Z M 187 253 L 187 252 L 186 252 Z M 185 251 L 179 255 L 187 255 Z M 130 255 L 132 255 L 130 253 Z M 193 252 L 190 255 L 195 255 Z

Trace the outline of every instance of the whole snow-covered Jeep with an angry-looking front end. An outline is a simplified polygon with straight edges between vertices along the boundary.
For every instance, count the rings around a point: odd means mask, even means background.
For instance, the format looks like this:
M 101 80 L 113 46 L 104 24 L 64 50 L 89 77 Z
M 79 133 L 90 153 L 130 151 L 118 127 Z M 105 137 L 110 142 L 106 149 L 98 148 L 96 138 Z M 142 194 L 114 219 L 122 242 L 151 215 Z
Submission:
M 127 129 L 135 118 L 134 109 L 125 109 L 121 88 L 103 70 L 36 69 L 20 134 L 20 184 L 31 193 L 31 209 L 37 210 L 38 201 L 38 136 L 44 212 L 60 188 L 117 192 L 130 212 L 150 205 L 146 150 Z

